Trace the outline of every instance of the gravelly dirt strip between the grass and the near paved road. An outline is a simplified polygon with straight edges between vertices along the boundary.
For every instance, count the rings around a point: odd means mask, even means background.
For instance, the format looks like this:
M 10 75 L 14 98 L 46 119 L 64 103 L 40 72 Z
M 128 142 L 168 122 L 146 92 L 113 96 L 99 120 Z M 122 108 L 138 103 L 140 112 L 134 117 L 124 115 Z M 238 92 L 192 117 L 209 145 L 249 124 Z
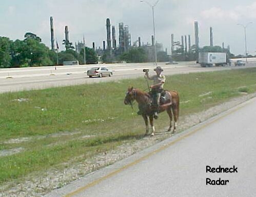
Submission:
M 254 94 L 243 95 L 221 105 L 214 106 L 200 113 L 180 117 L 178 123 L 178 132 L 181 132 L 193 125 L 201 123 L 210 117 L 235 107 L 252 97 Z M 115 150 L 97 154 L 93 159 L 84 160 L 75 165 L 67 164 L 65 170 L 51 169 L 48 172 L 42 172 L 41 176 L 29 176 L 24 178 L 22 183 L 8 183 L 0 187 L 0 196 L 42 196 L 51 190 L 61 188 L 68 183 L 82 178 L 91 171 L 110 165 L 116 161 L 122 160 L 136 152 L 139 152 L 157 142 L 170 137 L 170 132 L 157 132 L 154 137 L 145 137 L 136 140 L 134 143 L 123 144 Z M 13 186 L 14 185 L 14 186 Z

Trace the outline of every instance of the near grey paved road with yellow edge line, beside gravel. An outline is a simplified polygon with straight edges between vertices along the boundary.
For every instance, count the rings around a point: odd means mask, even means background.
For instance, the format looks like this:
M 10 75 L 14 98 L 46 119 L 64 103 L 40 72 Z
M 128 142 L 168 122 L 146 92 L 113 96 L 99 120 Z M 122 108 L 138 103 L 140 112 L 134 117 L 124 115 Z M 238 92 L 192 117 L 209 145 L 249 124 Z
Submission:
M 256 98 L 46 196 L 255 196 L 255 116 Z M 238 173 L 206 173 L 207 165 Z

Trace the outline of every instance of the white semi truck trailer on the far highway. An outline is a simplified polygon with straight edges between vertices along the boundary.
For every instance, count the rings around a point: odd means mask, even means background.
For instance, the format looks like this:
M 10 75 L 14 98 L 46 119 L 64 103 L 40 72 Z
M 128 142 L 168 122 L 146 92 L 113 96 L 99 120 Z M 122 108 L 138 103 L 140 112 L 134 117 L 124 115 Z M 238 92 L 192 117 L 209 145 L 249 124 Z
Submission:
M 200 52 L 198 63 L 202 67 L 226 66 L 228 64 L 227 54 L 221 52 Z

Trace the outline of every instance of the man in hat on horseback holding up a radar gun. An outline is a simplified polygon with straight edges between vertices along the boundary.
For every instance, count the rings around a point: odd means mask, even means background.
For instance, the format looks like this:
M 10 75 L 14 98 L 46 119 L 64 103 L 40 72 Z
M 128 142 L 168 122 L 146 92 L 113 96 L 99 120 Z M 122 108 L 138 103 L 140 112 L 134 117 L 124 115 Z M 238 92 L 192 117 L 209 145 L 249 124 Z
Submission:
M 150 86 L 151 93 L 152 93 L 152 107 L 154 112 L 154 118 L 158 118 L 159 109 L 160 109 L 160 97 L 161 93 L 163 92 L 163 87 L 165 83 L 165 76 L 161 74 L 163 69 L 160 66 L 157 66 L 154 71 L 156 75 L 149 76 L 148 72 L 145 73 L 145 78 L 149 80 L 153 80 L 153 85 Z

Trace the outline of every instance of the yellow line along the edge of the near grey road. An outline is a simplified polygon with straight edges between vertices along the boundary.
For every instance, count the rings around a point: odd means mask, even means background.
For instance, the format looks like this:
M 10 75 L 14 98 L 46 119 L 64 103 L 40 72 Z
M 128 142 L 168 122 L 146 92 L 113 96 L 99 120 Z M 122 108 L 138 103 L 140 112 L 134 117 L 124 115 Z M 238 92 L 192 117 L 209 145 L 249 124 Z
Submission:
M 252 99 L 253 99 L 253 98 L 252 98 Z M 251 99 L 251 100 L 252 100 L 252 99 Z M 245 105 L 248 105 L 249 103 L 250 103 L 250 102 L 247 102 L 246 104 L 243 103 L 243 104 L 241 104 L 239 107 L 236 107 L 236 108 L 234 108 L 234 109 L 231 109 L 231 110 L 228 111 L 227 113 L 224 113 L 224 114 L 220 115 L 219 117 L 216 117 L 215 119 L 213 119 L 213 120 L 210 121 L 209 123 L 206 123 L 206 124 L 204 124 L 204 125 L 202 125 L 202 126 L 200 126 L 200 127 L 198 127 L 198 128 L 195 128 L 195 129 L 192 130 L 191 132 L 188 132 L 187 134 L 185 134 L 185 135 L 183 135 L 183 136 L 180 136 L 179 138 L 173 140 L 173 141 L 170 142 L 169 144 L 167 144 L 167 145 L 165 145 L 165 146 L 162 146 L 162 147 L 160 147 L 159 149 L 156 149 L 156 150 L 154 150 L 154 151 L 152 151 L 152 152 L 146 154 L 145 156 L 141 157 L 140 159 L 138 159 L 138 160 L 136 160 L 136 161 L 134 161 L 134 162 L 131 162 L 131 163 L 129 163 L 129 164 L 127 164 L 127 165 L 125 165 L 125 166 L 123 166 L 123 167 L 121 167 L 121 168 L 119 168 L 119 169 L 117 169 L 117 170 L 115 170 L 115 171 L 113 171 L 113 172 L 111 172 L 111 173 L 109 173 L 109 174 L 103 176 L 102 178 L 97 179 L 97 180 L 95 180 L 95 181 L 93 181 L 93 182 L 91 182 L 91 183 L 85 185 L 84 187 L 78 188 L 78 189 L 76 189 L 75 191 L 64 195 L 64 197 L 72 197 L 72 196 L 74 196 L 74 195 L 76 195 L 76 194 L 78 194 L 78 193 L 81 193 L 82 191 L 84 191 L 84 190 L 86 190 L 86 189 L 88 189 L 88 188 L 90 188 L 90 187 L 92 187 L 92 186 L 94 186 L 94 185 L 99 184 L 100 182 L 102 182 L 102 181 L 104 181 L 104 180 L 110 178 L 111 176 L 113 176 L 113 175 L 115 175 L 115 174 L 118 174 L 119 172 L 122 172 L 122 171 L 124 171 L 125 169 L 127 169 L 127 168 L 129 168 L 129 167 L 131 167 L 131 166 L 134 166 L 134 165 L 136 165 L 137 163 L 140 163 L 140 162 L 142 162 L 142 161 L 148 159 L 148 157 L 152 156 L 153 154 L 158 153 L 158 152 L 160 152 L 160 151 L 162 151 L 162 150 L 164 150 L 164 149 L 166 149 L 166 148 L 172 146 L 172 145 L 175 144 L 176 142 L 179 142 L 179 141 L 185 139 L 186 137 L 188 137 L 188 136 L 194 134 L 195 132 L 202 130 L 203 128 L 207 127 L 208 125 L 210 125 L 210 124 L 212 124 L 212 123 L 215 123 L 216 121 L 219 121 L 219 120 L 222 119 L 223 117 L 226 117 L 227 115 L 229 115 L 229 114 L 231 114 L 231 113 L 233 113 L 233 112 L 235 112 L 235 111 L 238 111 L 239 109 L 241 109 L 241 108 L 244 107 Z

